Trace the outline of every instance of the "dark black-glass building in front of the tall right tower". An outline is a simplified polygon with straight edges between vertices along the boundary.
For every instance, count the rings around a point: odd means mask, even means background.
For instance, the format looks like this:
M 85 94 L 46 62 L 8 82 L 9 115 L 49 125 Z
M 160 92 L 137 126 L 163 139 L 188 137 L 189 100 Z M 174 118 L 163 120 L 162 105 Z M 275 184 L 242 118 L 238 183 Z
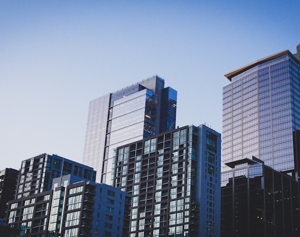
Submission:
M 226 163 L 222 172 L 222 237 L 298 237 L 298 182 L 257 158 Z

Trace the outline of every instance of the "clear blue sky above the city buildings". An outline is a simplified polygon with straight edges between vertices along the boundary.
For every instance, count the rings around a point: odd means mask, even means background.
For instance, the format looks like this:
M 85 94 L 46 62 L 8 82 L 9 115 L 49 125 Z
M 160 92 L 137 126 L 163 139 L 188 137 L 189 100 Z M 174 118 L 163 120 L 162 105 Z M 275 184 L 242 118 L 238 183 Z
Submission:
M 222 131 L 223 76 L 300 43 L 299 0 L 0 1 L 0 169 L 81 162 L 88 103 L 158 75 L 177 125 Z

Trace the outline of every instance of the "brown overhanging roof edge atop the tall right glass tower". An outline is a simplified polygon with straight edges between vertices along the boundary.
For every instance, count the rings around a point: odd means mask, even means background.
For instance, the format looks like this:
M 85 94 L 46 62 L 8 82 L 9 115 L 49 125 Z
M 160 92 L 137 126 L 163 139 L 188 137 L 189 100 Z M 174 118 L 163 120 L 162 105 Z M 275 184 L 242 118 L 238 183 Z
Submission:
M 249 70 L 249 69 L 252 68 L 252 67 L 255 67 L 255 66 L 257 66 L 257 65 L 259 65 L 259 64 L 261 64 L 261 63 L 265 63 L 265 62 L 267 62 L 267 61 L 270 61 L 270 60 L 272 60 L 272 59 L 274 59 L 274 58 L 278 58 L 278 57 L 283 56 L 283 55 L 286 55 L 286 54 L 290 55 L 294 60 L 296 60 L 296 62 L 299 62 L 299 60 L 294 56 L 293 53 L 290 52 L 290 50 L 284 50 L 284 51 L 282 51 L 282 52 L 273 54 L 273 55 L 271 55 L 271 56 L 268 56 L 268 57 L 265 57 L 265 58 L 256 60 L 256 61 L 254 61 L 254 62 L 252 62 L 252 63 L 250 63 L 250 64 L 247 64 L 247 65 L 244 66 L 244 67 L 241 67 L 241 68 L 239 68 L 239 69 L 237 69 L 237 70 L 235 70 L 235 71 L 232 71 L 232 72 L 230 72 L 230 73 L 227 73 L 227 74 L 225 74 L 224 76 L 225 76 L 227 79 L 229 79 L 229 80 L 231 81 L 231 79 L 232 79 L 233 77 L 237 76 L 237 75 L 240 74 L 240 73 L 243 73 L 243 72 Z

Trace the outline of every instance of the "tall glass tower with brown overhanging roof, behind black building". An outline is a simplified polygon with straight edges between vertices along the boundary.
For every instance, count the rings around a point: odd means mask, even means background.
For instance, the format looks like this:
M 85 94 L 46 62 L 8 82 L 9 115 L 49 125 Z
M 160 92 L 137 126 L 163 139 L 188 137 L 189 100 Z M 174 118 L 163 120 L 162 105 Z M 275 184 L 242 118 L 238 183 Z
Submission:
M 222 171 L 225 163 L 257 157 L 299 179 L 300 75 L 289 50 L 225 75 Z

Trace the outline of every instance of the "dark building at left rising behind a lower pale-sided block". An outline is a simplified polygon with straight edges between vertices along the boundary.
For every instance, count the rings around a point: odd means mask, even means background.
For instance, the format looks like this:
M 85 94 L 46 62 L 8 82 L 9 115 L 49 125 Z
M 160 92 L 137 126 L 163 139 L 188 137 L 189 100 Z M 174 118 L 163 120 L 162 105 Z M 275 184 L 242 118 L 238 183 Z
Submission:
M 66 174 L 73 174 L 91 181 L 96 179 L 96 171 L 92 167 L 57 155 L 42 154 L 23 160 L 15 198 L 50 190 L 53 178 Z

